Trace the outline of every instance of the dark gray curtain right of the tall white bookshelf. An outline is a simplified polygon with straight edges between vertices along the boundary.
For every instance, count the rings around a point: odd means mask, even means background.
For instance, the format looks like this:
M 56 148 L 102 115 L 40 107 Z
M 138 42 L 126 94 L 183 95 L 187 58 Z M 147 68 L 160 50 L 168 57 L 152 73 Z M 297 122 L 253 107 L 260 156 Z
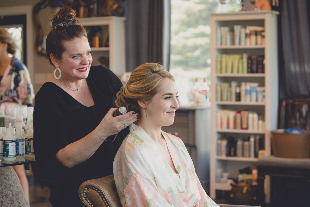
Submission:
M 309 1 L 283 0 L 279 48 L 280 100 L 310 97 Z M 281 51 L 282 50 L 282 51 Z M 281 55 L 283 54 L 283 57 Z

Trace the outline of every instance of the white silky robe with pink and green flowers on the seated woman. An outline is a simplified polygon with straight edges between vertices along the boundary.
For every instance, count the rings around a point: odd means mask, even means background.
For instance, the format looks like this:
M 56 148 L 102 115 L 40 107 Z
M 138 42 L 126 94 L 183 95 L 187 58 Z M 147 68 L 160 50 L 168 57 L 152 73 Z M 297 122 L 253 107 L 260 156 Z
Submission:
M 121 204 L 137 207 L 218 207 L 202 188 L 183 141 L 163 131 L 162 135 L 179 177 L 149 135 L 132 124 L 113 163 Z

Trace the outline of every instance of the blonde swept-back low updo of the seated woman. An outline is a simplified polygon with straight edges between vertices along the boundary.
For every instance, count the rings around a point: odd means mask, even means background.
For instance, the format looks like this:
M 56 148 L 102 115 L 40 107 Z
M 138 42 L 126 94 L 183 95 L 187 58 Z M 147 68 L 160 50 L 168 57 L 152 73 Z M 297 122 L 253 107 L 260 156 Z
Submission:
M 158 93 L 164 78 L 175 82 L 173 75 L 158 63 L 145 63 L 137 67 L 126 85 L 117 93 L 116 106 L 125 106 L 128 112 L 141 114 L 138 101 L 151 100 Z

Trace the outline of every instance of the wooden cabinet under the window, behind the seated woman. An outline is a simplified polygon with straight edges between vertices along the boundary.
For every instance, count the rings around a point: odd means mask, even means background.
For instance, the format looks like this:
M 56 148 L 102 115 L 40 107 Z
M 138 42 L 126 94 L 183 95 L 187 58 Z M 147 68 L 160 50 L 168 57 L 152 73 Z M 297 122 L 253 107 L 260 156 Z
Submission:
M 193 160 L 197 176 L 209 192 L 210 107 L 180 107 L 174 123 L 162 130 L 180 137 Z

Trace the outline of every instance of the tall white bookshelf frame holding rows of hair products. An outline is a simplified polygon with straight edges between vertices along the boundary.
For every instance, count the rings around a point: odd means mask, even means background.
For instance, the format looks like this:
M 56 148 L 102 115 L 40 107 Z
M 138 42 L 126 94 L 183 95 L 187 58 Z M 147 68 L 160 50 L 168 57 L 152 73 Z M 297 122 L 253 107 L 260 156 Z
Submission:
M 261 135 L 265 139 L 266 156 L 271 153 L 270 131 L 277 126 L 278 113 L 278 51 L 277 51 L 277 14 L 275 11 L 244 11 L 237 13 L 211 13 L 210 14 L 210 54 L 211 54 L 211 151 L 210 151 L 210 197 L 215 199 L 216 190 L 230 190 L 229 183 L 216 183 L 216 169 L 223 168 L 231 177 L 237 177 L 238 170 L 253 167 L 258 158 L 222 157 L 216 156 L 216 141 L 225 135 L 234 135 L 236 138 L 247 135 Z M 216 28 L 218 26 L 243 25 L 265 27 L 265 45 L 254 46 L 216 46 Z M 219 54 L 265 55 L 264 74 L 216 74 L 216 56 Z M 265 102 L 228 102 L 216 101 L 215 88 L 217 82 L 259 82 L 265 87 Z M 240 85 L 239 85 L 240 86 Z M 219 130 L 216 129 L 216 111 L 222 109 L 256 110 L 265 117 L 265 131 L 249 130 Z M 267 189 L 270 188 L 267 180 Z M 266 191 L 266 201 L 268 202 Z

